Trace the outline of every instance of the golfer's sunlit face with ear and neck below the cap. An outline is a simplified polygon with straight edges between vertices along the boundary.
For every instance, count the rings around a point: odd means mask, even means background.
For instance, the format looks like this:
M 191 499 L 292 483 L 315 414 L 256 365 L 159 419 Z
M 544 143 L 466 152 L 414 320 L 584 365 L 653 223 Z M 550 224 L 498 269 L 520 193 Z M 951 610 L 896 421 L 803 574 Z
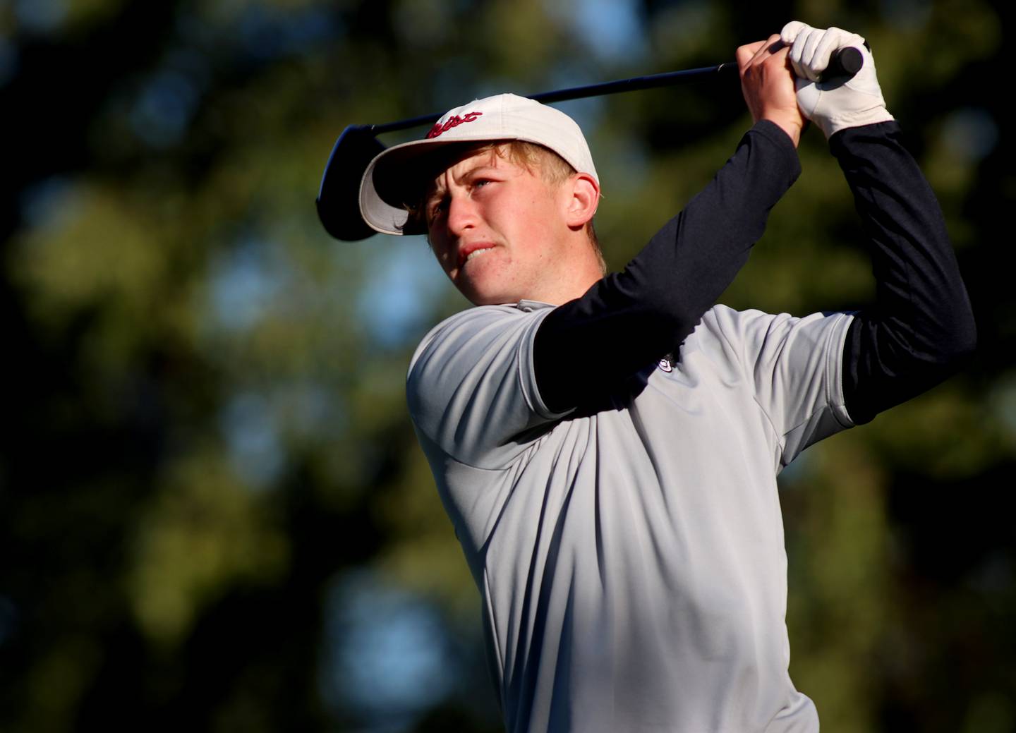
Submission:
M 583 228 L 597 200 L 598 188 L 585 174 L 553 186 L 493 150 L 466 154 L 430 187 L 431 247 L 473 305 L 559 305 L 601 276 Z M 489 251 L 465 261 L 477 249 Z

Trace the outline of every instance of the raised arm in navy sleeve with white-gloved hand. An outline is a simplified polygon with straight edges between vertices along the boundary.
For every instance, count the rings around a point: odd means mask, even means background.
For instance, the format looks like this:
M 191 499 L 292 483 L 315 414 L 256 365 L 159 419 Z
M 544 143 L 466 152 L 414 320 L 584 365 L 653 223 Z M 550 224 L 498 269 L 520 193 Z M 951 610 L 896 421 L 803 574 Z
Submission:
M 855 315 L 843 350 L 847 412 L 868 422 L 963 363 L 973 314 L 938 201 L 886 110 L 864 39 L 792 22 L 782 41 L 801 77 L 799 103 L 829 139 L 868 236 L 877 299 Z M 861 73 L 848 84 L 817 82 L 828 55 L 846 45 L 862 51 Z

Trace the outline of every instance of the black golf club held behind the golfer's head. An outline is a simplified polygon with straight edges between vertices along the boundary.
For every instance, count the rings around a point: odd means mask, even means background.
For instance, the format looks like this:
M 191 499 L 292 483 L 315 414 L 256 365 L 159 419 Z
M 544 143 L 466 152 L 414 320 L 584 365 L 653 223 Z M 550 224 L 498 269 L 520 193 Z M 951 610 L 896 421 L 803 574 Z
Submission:
M 861 70 L 863 64 L 864 57 L 858 49 L 850 47 L 840 49 L 830 59 L 823 79 L 827 81 L 839 77 L 848 79 Z M 615 94 L 621 91 L 671 86 L 690 77 L 718 74 L 725 76 L 727 73 L 737 72 L 737 63 L 726 62 L 717 66 L 636 76 L 586 86 L 544 91 L 537 94 L 527 94 L 527 96 L 536 102 L 552 104 L 566 99 Z M 439 112 L 380 125 L 350 125 L 342 130 L 342 134 L 335 141 L 325 165 L 316 201 L 318 217 L 329 235 L 336 240 L 356 242 L 375 234 L 360 213 L 360 184 L 371 160 L 385 149 L 376 136 L 384 132 L 430 125 L 443 114 L 444 112 Z

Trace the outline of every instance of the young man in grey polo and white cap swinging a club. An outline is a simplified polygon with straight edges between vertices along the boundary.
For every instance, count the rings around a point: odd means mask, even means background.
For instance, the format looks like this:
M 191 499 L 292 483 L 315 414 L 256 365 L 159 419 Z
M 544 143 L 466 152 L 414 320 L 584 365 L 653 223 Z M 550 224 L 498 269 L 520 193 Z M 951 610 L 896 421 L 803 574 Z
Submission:
M 426 227 L 478 306 L 427 335 L 407 392 L 509 731 L 817 731 L 787 674 L 776 474 L 972 349 L 942 216 L 871 55 L 849 83 L 815 83 L 863 39 L 797 22 L 781 37 L 738 50 L 754 127 L 620 273 L 604 276 L 590 238 L 585 140 L 550 108 L 470 103 L 365 175 L 366 220 Z M 878 303 L 714 306 L 799 174 L 806 117 L 854 193 Z

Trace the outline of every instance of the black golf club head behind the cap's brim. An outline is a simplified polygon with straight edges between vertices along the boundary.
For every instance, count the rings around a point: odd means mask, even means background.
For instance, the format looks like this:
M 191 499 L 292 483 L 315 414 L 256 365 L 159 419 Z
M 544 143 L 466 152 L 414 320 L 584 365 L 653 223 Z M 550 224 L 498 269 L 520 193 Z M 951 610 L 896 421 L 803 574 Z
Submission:
M 318 218 L 336 240 L 356 242 L 375 234 L 360 213 L 360 182 L 385 146 L 368 125 L 350 125 L 335 141 L 318 191 Z

